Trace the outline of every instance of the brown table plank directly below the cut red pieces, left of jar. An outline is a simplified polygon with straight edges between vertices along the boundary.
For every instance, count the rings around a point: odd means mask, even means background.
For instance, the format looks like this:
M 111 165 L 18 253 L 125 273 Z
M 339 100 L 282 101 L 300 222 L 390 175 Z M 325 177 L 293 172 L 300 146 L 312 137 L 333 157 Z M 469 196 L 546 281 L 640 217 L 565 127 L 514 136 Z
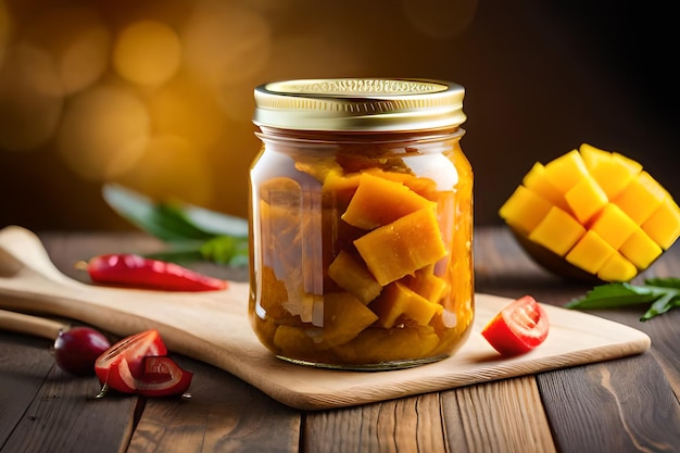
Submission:
M 147 400 L 128 453 L 298 452 L 301 413 L 242 380 L 184 356 L 190 399 Z

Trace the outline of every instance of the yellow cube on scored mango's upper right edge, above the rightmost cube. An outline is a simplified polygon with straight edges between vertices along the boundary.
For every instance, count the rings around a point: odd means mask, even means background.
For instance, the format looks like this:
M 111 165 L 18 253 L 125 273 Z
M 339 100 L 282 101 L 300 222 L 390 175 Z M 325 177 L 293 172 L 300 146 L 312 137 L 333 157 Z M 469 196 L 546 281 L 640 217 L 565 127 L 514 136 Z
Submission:
M 647 172 L 642 172 L 613 201 L 631 221 L 641 225 L 667 197 L 666 189 Z

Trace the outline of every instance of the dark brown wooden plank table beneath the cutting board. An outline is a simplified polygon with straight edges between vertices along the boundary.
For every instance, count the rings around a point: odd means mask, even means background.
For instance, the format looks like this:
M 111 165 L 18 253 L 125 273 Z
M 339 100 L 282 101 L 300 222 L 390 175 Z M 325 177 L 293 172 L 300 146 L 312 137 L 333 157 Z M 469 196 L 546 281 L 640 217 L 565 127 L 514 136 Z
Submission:
M 79 260 L 159 246 L 141 234 L 40 237 L 80 280 Z M 478 292 L 562 305 L 589 289 L 538 268 L 502 227 L 478 228 L 475 260 Z M 644 276 L 680 276 L 680 246 Z M 592 312 L 646 332 L 652 347 L 640 355 L 317 412 L 185 356 L 176 358 L 194 372 L 190 399 L 96 400 L 97 379 L 55 367 L 50 341 L 0 332 L 0 452 L 680 452 L 680 310 L 646 323 L 642 312 Z

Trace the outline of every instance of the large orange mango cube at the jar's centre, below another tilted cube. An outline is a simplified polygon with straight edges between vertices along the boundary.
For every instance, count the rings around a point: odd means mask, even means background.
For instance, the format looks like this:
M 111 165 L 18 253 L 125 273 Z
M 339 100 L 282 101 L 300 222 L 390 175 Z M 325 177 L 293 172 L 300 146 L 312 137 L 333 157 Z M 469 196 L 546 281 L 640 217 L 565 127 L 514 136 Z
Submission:
M 354 247 L 381 286 L 446 256 L 435 210 L 426 207 L 378 227 Z

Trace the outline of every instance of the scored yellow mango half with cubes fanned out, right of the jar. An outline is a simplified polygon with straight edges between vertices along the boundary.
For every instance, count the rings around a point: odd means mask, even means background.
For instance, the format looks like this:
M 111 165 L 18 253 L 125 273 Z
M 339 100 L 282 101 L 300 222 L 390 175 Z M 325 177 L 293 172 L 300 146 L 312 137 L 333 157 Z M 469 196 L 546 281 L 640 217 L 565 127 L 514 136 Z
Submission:
M 546 263 L 562 260 L 603 281 L 631 280 L 680 237 L 680 209 L 668 191 L 638 162 L 588 143 L 536 163 L 499 215 L 539 246 L 527 247 L 539 264 L 559 274 Z

